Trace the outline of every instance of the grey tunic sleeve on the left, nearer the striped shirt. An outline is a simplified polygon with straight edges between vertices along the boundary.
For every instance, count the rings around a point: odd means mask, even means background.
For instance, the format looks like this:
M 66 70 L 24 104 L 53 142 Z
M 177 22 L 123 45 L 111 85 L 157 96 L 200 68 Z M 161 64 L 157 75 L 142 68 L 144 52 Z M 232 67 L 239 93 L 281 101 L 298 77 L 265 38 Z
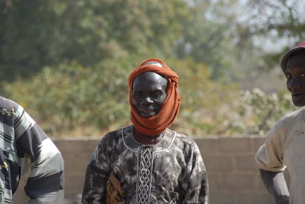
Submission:
M 82 204 L 106 204 L 106 182 L 111 171 L 106 141 L 102 139 L 92 153 L 86 169 Z

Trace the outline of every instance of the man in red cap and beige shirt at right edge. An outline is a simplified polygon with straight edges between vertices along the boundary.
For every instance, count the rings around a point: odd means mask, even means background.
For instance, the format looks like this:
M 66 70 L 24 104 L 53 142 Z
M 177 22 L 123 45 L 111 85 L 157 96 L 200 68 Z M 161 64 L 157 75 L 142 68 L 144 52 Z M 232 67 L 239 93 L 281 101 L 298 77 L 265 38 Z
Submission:
M 285 53 L 281 60 L 293 104 L 305 106 L 305 42 Z M 305 109 L 283 116 L 269 131 L 255 156 L 261 178 L 277 204 L 305 202 Z M 288 169 L 288 191 L 283 172 Z

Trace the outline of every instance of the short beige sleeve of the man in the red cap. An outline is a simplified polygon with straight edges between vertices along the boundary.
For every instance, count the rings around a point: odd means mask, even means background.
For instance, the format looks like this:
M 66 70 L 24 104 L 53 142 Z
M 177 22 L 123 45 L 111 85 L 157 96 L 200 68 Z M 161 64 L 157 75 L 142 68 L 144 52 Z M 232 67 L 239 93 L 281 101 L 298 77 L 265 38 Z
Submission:
M 286 166 L 283 164 L 284 157 L 284 135 L 278 131 L 275 125 L 267 134 L 263 144 L 255 155 L 259 168 L 270 172 L 284 172 Z

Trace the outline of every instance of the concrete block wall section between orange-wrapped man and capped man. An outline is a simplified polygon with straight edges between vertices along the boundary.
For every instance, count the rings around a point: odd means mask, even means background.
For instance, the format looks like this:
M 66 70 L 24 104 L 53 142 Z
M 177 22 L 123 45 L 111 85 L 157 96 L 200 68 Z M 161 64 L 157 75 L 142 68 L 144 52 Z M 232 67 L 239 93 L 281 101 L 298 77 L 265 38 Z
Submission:
M 212 204 L 269 204 L 254 160 L 264 138 L 255 136 L 196 140 L 206 165 Z

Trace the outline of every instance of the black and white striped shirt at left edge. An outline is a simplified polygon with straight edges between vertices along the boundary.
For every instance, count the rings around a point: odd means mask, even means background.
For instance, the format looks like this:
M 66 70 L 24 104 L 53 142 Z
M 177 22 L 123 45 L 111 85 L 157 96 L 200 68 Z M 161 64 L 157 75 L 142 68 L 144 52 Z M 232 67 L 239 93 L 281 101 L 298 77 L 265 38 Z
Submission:
M 12 203 L 28 171 L 28 203 L 63 203 L 62 155 L 21 106 L 0 96 L 0 203 Z

